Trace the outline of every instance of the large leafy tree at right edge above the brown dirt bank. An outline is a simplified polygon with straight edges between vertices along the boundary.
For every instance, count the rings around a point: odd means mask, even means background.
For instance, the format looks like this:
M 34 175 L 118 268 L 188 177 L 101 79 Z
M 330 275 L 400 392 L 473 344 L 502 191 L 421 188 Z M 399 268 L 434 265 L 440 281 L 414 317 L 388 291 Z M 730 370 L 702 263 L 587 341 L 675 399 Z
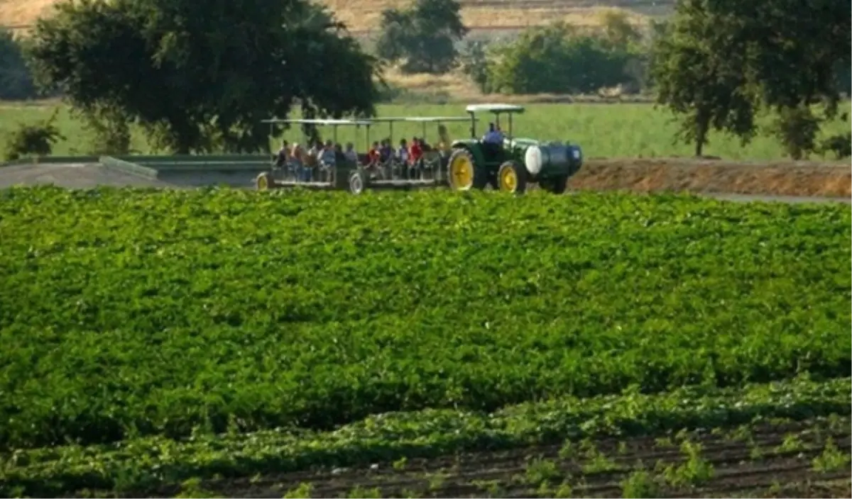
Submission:
M 802 110 L 821 103 L 826 117 L 837 112 L 836 70 L 852 49 L 850 8 L 849 0 L 681 0 L 654 44 L 657 101 L 680 117 L 679 136 L 699 156 L 712 129 L 750 141 L 761 108 L 803 121 L 781 128 L 816 133 Z

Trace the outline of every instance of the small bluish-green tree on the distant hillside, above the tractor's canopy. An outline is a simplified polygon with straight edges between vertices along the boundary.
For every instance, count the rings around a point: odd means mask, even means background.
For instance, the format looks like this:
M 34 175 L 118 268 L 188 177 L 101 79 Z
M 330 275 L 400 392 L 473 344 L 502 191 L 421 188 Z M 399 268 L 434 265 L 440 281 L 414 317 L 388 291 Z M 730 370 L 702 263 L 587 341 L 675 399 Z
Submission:
M 467 32 L 455 0 L 417 0 L 411 9 L 382 13 L 377 53 L 389 62 L 403 61 L 406 73 L 446 73 L 458 57 L 455 43 Z

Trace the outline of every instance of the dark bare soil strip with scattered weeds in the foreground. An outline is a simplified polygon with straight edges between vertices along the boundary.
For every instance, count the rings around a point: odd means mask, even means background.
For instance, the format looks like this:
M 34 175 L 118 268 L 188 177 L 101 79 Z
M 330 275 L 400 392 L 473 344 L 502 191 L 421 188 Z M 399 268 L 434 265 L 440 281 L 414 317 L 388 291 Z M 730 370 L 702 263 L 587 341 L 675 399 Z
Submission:
M 850 424 L 797 423 L 688 434 L 690 442 L 701 445 L 698 457 L 691 460 L 678 437 L 605 439 L 573 442 L 568 451 L 552 445 L 383 462 L 371 468 L 216 480 L 203 487 L 225 496 L 256 498 L 281 497 L 305 484 L 312 485 L 313 496 L 322 497 L 348 496 L 356 488 L 378 489 L 382 497 L 553 497 L 569 488 L 573 496 L 621 497 L 625 479 L 644 469 L 659 484 L 660 493 L 670 497 L 849 497 L 852 468 L 815 469 L 814 459 L 827 455 L 828 438 L 836 445 L 832 456 L 841 460 L 849 456 Z M 695 464 L 709 464 L 711 475 L 695 479 L 697 475 L 689 471 Z M 666 467 L 672 471 L 666 472 Z M 677 485 L 677 479 L 686 482 Z M 164 489 L 160 494 L 171 496 L 179 490 Z

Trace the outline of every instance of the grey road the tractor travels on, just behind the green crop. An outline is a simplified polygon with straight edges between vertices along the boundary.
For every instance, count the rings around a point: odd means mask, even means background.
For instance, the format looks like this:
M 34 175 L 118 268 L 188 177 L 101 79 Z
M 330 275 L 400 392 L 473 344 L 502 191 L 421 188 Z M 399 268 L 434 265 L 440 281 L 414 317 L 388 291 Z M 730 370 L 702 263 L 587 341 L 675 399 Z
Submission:
M 56 184 L 71 189 L 86 189 L 97 185 L 191 188 L 208 185 L 229 185 L 250 188 L 252 173 L 198 173 L 172 174 L 164 178 L 143 179 L 128 173 L 101 167 L 98 164 L 23 165 L 0 167 L 0 189 L 20 184 Z M 839 202 L 852 204 L 852 198 L 757 196 L 743 194 L 706 193 L 704 196 L 724 201 L 777 201 L 786 203 Z

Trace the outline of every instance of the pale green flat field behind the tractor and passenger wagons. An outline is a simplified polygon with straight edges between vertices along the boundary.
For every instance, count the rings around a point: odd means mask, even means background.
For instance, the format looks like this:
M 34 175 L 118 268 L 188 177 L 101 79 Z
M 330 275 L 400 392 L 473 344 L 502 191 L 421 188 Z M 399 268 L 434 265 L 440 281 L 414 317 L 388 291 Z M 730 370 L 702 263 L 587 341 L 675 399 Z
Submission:
M 18 123 L 37 122 L 47 118 L 53 108 L 38 105 L 6 105 L 0 107 L 0 138 L 13 130 Z M 379 116 L 459 116 L 464 114 L 464 105 L 380 105 Z M 55 147 L 57 155 L 86 154 L 91 150 L 91 140 L 81 129 L 79 122 L 66 111 L 60 114 L 60 130 L 66 136 Z M 484 130 L 488 116 L 481 116 L 480 130 Z M 468 125 L 455 123 L 450 127 L 453 138 L 469 133 Z M 825 134 L 847 131 L 843 123 L 827 123 Z M 589 157 L 653 157 L 692 156 L 693 149 L 686 145 L 674 145 L 676 124 L 665 111 L 654 110 L 648 104 L 538 104 L 529 105 L 527 114 L 515 120 L 515 133 L 537 139 L 570 140 L 582 145 Z M 331 138 L 331 130 L 325 131 Z M 397 124 L 394 138 L 420 136 L 422 128 Z M 388 135 L 387 128 L 371 131 L 372 139 Z M 435 141 L 435 127 L 427 129 L 427 138 Z M 287 139 L 300 140 L 296 131 L 287 133 Z M 354 140 L 360 150 L 366 147 L 366 133 L 341 128 L 338 140 Z M 141 152 L 149 151 L 144 137 L 138 133 L 134 147 Z M 722 156 L 731 160 L 769 160 L 784 156 L 777 142 L 767 136 L 758 136 L 751 145 L 741 147 L 737 139 L 725 135 L 714 135 L 705 154 Z

